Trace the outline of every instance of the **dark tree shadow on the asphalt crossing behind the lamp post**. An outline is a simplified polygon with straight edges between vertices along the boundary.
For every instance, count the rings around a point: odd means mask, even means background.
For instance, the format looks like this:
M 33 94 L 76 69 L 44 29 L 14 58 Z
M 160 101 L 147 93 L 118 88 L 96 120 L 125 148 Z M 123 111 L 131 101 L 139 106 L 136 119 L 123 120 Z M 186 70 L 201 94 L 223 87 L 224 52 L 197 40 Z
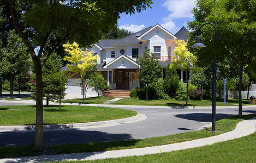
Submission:
M 236 116 L 235 114 L 216 114 L 216 121 L 222 120 L 223 118 L 228 118 L 231 116 Z M 212 114 L 207 113 L 191 113 L 191 114 L 177 114 L 177 118 L 198 121 L 198 122 L 212 122 Z

